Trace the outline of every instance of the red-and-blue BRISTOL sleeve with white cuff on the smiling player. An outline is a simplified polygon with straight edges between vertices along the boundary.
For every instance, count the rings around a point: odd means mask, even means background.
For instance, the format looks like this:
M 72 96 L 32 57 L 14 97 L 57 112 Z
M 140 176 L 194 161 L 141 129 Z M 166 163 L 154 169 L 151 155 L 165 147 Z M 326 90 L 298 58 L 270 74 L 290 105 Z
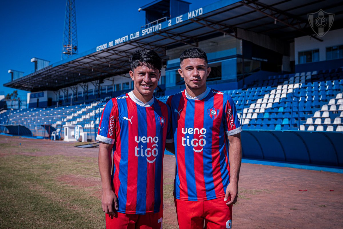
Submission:
M 118 109 L 111 99 L 106 103 L 101 115 L 96 140 L 113 145 L 116 137 L 117 119 Z

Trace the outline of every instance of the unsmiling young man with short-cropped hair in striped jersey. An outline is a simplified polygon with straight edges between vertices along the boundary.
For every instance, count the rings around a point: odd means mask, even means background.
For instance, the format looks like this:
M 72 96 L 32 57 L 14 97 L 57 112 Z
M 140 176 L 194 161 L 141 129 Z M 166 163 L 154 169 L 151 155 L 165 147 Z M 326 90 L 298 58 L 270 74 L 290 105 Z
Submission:
M 186 90 L 168 98 L 174 138 L 167 142 L 174 141 L 175 147 L 179 227 L 231 228 L 241 163 L 242 128 L 235 104 L 206 86 L 211 68 L 203 50 L 185 50 L 178 71 Z

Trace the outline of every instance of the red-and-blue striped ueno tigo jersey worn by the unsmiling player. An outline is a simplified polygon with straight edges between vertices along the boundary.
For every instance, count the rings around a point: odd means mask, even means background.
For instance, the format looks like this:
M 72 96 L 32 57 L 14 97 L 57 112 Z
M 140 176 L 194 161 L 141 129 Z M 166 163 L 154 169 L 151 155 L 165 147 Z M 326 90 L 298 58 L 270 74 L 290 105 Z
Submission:
M 196 98 L 186 90 L 170 96 L 176 155 L 174 196 L 204 201 L 225 196 L 229 184 L 227 136 L 242 131 L 232 98 L 207 88 Z M 171 138 L 173 138 L 171 137 Z

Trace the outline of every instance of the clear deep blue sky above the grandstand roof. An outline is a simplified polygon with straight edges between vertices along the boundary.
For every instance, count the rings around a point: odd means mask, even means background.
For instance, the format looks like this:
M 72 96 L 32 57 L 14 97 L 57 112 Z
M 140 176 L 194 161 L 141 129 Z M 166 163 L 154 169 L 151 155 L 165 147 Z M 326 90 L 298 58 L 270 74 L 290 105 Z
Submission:
M 145 24 L 145 12 L 138 8 L 153 0 L 75 0 L 79 53 L 133 33 Z M 218 0 L 186 0 L 190 10 Z M 0 8 L 0 92 L 11 79 L 9 69 L 32 73 L 32 57 L 61 59 L 66 0 L 3 1 Z M 26 91 L 19 95 L 26 100 Z

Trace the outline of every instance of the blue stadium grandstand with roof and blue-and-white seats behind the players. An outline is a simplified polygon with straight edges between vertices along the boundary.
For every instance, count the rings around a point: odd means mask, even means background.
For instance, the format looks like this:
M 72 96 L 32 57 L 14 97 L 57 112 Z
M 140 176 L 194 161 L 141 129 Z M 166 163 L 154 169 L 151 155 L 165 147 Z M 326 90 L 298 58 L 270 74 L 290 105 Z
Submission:
M 236 103 L 245 158 L 342 167 L 342 2 L 222 0 L 192 11 L 189 4 L 153 1 L 139 8 L 146 15 L 139 31 L 53 64 L 33 58 L 35 72 L 26 76 L 9 71 L 4 86 L 30 93 L 27 108 L 0 112 L 1 124 L 34 135 L 51 125 L 64 138 L 66 128 L 79 127 L 94 140 L 106 102 L 133 88 L 135 49 L 162 57 L 155 96 L 166 102 L 185 89 L 179 55 L 199 47 L 208 54 L 208 86 Z M 310 15 L 325 18 L 321 32 Z

